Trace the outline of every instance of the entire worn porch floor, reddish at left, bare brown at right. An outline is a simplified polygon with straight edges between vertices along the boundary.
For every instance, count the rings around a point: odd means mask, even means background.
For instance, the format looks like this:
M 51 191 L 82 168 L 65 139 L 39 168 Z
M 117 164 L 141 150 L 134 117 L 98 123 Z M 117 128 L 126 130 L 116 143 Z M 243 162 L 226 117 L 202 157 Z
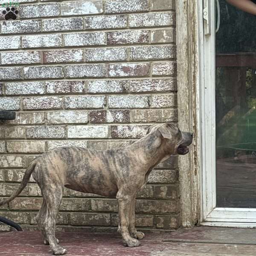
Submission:
M 117 233 L 57 233 L 68 256 L 250 256 L 256 255 L 256 230 L 196 227 L 171 233 L 146 233 L 142 245 L 122 246 Z M 0 256 L 49 256 L 38 231 L 0 232 Z

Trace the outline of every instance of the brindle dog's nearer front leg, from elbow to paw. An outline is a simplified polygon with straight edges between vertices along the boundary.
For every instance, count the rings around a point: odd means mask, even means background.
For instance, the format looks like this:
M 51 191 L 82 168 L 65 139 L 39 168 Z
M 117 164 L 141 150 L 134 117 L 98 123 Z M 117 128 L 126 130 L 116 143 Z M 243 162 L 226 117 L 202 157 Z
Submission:
M 124 192 L 118 192 L 116 198 L 119 207 L 119 231 L 122 235 L 123 245 L 128 247 L 137 247 L 140 245 L 140 241 L 132 238 L 129 233 L 129 217 L 133 196 L 127 195 Z

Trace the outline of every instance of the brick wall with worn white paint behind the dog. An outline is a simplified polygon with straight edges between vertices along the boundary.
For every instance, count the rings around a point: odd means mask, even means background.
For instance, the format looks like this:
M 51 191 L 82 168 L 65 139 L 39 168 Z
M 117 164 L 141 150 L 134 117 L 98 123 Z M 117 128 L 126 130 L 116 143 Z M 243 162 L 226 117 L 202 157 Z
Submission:
M 0 125 L 0 199 L 44 151 L 117 148 L 152 123 L 177 122 L 173 0 L 19 2 L 18 20 L 0 12 L 0 109 L 17 111 Z M 179 225 L 177 182 L 175 157 L 152 171 L 137 196 L 138 227 Z M 33 228 L 40 206 L 31 179 L 0 215 Z M 61 226 L 111 229 L 117 218 L 116 200 L 65 189 Z

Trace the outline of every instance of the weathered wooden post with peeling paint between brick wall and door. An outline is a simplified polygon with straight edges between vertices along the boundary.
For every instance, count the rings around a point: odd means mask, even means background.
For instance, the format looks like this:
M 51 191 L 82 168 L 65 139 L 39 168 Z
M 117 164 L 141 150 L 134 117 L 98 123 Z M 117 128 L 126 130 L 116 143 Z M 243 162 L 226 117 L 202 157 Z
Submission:
M 183 227 L 193 227 L 201 219 L 199 1 L 175 2 L 178 124 L 181 130 L 194 135 L 189 154 L 179 157 L 180 224 Z

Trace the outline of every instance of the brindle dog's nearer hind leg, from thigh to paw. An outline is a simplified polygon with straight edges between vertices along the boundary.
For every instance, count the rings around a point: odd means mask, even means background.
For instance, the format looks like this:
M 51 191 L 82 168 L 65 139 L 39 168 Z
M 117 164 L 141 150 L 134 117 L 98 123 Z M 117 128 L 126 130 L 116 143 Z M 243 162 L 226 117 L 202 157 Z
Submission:
M 58 239 L 55 237 L 56 217 L 61 205 L 62 193 L 61 184 L 45 184 L 42 189 L 42 195 L 46 202 L 46 213 L 42 225 L 54 255 L 63 255 L 67 252 L 66 249 L 58 245 Z

